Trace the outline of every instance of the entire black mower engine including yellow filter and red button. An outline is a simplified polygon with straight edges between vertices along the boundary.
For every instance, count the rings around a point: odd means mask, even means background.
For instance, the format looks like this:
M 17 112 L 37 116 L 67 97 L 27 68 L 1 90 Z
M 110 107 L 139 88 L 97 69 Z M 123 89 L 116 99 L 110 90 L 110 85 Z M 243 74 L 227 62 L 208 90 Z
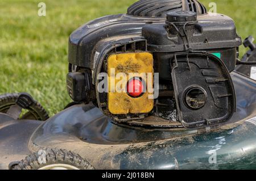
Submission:
M 215 127 L 236 111 L 240 45 L 234 21 L 196 0 L 138 1 L 72 33 L 68 92 L 114 123 Z

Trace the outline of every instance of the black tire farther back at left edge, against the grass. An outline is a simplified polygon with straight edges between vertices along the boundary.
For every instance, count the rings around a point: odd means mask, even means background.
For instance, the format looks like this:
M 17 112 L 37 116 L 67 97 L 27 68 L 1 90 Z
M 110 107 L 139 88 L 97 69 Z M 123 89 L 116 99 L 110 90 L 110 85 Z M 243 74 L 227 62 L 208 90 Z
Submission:
M 0 95 L 0 112 L 6 113 L 11 106 L 15 105 L 18 97 L 19 94 L 16 93 Z M 36 101 L 27 110 L 19 119 L 45 121 L 49 118 L 43 106 Z

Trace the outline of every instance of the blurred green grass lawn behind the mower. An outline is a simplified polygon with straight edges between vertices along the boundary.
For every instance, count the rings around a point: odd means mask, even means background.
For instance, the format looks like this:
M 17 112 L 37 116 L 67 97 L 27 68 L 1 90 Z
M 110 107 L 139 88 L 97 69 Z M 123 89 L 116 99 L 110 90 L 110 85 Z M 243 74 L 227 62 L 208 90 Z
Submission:
M 66 87 L 68 36 L 89 20 L 125 13 L 137 0 L 1 0 L 0 1 L 0 94 L 29 92 L 49 114 L 71 102 Z M 45 2 L 47 16 L 38 16 Z M 243 39 L 256 37 L 256 1 L 201 0 L 208 8 L 232 17 Z M 209 8 L 208 8 L 209 9 Z M 241 54 L 246 49 L 241 48 Z

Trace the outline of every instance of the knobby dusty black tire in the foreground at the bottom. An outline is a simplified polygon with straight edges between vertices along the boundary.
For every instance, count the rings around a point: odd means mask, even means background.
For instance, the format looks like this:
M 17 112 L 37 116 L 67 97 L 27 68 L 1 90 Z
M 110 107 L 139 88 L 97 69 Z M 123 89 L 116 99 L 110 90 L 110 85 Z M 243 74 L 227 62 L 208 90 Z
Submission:
M 42 153 L 45 151 L 45 162 L 41 163 Z M 39 153 L 40 152 L 40 153 Z M 40 154 L 40 155 L 39 155 Z M 16 165 L 10 166 L 11 170 L 51 170 L 49 169 L 54 165 L 68 165 L 75 167 L 79 170 L 94 170 L 94 167 L 90 165 L 86 159 L 80 157 L 79 154 L 75 154 L 72 151 L 63 149 L 46 149 L 40 150 L 38 153 L 29 155 Z M 44 169 L 48 167 L 48 169 Z

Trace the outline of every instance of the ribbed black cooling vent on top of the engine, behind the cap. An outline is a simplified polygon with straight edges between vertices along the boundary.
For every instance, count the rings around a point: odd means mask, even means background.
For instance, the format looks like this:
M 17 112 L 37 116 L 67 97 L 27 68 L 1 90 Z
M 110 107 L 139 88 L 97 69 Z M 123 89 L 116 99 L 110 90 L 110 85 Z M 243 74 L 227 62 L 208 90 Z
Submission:
M 167 12 L 189 10 L 197 15 L 206 14 L 207 10 L 197 0 L 141 0 L 128 8 L 127 14 L 150 18 L 164 18 Z

